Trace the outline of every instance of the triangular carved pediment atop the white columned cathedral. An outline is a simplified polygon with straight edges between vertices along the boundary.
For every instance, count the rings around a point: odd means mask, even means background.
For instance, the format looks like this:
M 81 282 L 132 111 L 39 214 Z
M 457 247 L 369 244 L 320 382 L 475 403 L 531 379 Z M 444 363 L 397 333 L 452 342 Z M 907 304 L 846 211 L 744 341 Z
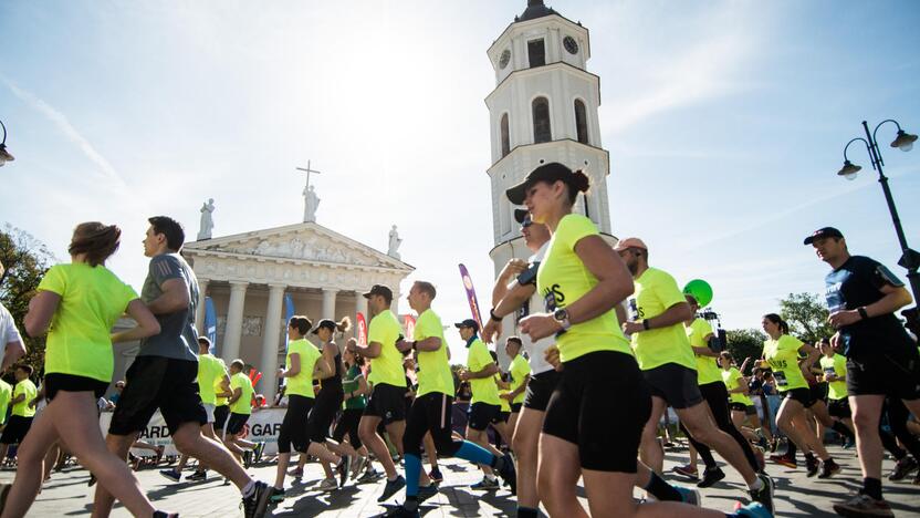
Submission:
M 232 255 L 297 262 L 389 268 L 414 268 L 367 245 L 355 241 L 315 222 L 303 222 L 265 230 L 189 242 L 191 255 Z

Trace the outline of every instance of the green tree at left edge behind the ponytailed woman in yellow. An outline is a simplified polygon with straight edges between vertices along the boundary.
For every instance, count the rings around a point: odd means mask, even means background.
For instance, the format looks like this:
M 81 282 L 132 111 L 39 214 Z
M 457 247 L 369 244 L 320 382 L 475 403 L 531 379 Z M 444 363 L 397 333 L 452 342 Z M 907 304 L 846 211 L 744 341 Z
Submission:
M 13 315 L 27 350 L 20 363 L 28 363 L 35 372 L 42 372 L 45 339 L 25 335 L 22 321 L 39 282 L 54 262 L 54 256 L 32 235 L 7 224 L 0 229 L 0 261 L 6 267 L 0 277 L 0 302 Z

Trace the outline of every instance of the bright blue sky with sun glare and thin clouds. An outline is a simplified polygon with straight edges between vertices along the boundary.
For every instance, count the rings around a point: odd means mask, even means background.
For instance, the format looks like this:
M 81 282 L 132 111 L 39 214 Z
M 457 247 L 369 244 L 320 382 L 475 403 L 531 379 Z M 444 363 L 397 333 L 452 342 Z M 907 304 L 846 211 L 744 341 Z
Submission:
M 139 287 L 147 216 L 195 236 L 213 197 L 217 236 L 297 222 L 294 167 L 311 159 L 318 222 L 384 250 L 398 225 L 411 279 L 463 318 L 457 263 L 481 299 L 492 274 L 485 50 L 525 3 L 2 2 L 17 160 L 0 168 L 0 221 L 61 258 L 75 224 L 117 222 L 111 267 Z M 920 132 L 920 4 L 548 4 L 590 30 L 614 234 L 640 236 L 680 283 L 707 279 L 725 327 L 823 290 L 802 238 L 824 225 L 903 273 L 875 174 L 835 173 L 864 118 Z M 893 135 L 879 131 L 887 173 L 920 248 L 920 148 Z M 869 166 L 858 146 L 850 158 Z

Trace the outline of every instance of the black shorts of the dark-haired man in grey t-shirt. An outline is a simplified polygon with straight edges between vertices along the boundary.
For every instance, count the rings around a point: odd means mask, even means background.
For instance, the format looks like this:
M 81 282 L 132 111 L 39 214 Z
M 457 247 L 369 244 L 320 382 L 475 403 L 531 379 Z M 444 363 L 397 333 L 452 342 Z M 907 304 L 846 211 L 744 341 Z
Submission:
M 169 434 L 185 423 L 208 423 L 198 394 L 198 362 L 163 356 L 137 356 L 125 375 L 125 390 L 108 433 L 129 435 L 147 427 L 159 408 Z

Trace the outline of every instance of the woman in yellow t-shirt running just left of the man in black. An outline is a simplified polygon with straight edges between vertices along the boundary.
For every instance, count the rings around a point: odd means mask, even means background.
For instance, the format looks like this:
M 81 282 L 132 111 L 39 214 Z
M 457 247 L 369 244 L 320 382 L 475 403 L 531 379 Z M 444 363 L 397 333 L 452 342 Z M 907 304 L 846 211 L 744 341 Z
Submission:
M 808 476 L 818 469 L 814 454 L 822 459 L 820 478 L 827 478 L 840 470 L 840 466 L 830 458 L 822 441 L 811 432 L 805 419 L 805 408 L 814 405 L 812 391 L 798 365 L 799 352 L 807 354 L 806 365 L 811 365 L 820 354 L 807 343 L 803 343 L 788 333 L 788 324 L 778 314 L 769 313 L 762 321 L 764 332 L 770 336 L 763 344 L 763 358 L 773 370 L 776 388 L 784 395 L 780 411 L 776 413 L 776 426 L 786 434 L 791 444 L 805 453 L 805 466 Z M 783 466 L 796 466 L 795 450 L 783 455 L 771 455 L 772 460 Z

